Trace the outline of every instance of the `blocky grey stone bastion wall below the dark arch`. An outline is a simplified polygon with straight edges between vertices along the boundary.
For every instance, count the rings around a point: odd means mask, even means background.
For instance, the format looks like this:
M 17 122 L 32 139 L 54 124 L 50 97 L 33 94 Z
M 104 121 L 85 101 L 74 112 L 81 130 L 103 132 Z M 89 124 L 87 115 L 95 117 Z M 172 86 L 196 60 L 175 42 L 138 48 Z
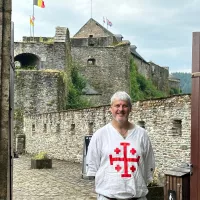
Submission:
M 58 111 L 63 107 L 60 72 L 17 70 L 14 84 L 14 134 L 23 133 L 24 113 Z

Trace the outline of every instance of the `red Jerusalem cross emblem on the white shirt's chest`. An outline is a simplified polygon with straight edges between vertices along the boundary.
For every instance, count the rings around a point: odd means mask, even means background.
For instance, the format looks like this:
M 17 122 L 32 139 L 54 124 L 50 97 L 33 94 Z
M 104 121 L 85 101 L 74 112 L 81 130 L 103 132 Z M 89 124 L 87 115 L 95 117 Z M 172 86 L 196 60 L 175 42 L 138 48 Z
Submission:
M 122 161 L 123 165 L 124 165 L 124 173 L 121 174 L 121 177 L 131 177 L 131 174 L 128 173 L 129 169 L 128 169 L 128 163 L 129 162 L 139 162 L 140 160 L 140 156 L 136 157 L 136 158 L 128 158 L 128 146 L 130 146 L 130 143 L 125 143 L 125 142 L 121 142 L 120 145 L 123 147 L 123 157 L 112 157 L 112 155 L 109 155 L 110 158 L 110 164 L 113 165 L 114 161 Z M 121 150 L 119 148 L 116 148 L 114 150 L 114 152 L 116 154 L 119 154 L 121 152 Z M 134 148 L 130 149 L 130 153 L 132 155 L 135 155 L 136 150 Z M 122 169 L 122 167 L 120 165 L 117 165 L 115 167 L 115 170 L 117 170 L 118 172 Z M 130 167 L 130 170 L 132 172 L 134 172 L 136 170 L 135 166 L 132 165 Z

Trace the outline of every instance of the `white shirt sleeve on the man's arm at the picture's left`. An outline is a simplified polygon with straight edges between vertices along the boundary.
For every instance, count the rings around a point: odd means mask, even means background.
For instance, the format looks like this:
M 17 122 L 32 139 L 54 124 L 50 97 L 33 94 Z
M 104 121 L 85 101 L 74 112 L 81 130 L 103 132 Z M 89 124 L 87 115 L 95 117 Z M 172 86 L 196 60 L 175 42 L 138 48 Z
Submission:
M 100 166 L 100 140 L 97 137 L 97 134 L 93 134 L 90 144 L 88 146 L 88 152 L 86 156 L 86 175 L 95 176 L 96 172 Z

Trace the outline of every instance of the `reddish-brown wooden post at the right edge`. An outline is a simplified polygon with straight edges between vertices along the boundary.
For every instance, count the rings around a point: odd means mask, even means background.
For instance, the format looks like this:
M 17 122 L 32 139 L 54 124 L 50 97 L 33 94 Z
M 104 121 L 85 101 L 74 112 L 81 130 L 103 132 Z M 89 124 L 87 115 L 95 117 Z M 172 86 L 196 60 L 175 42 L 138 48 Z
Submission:
M 191 164 L 190 200 L 200 200 L 200 32 L 192 41 L 192 105 L 191 105 Z

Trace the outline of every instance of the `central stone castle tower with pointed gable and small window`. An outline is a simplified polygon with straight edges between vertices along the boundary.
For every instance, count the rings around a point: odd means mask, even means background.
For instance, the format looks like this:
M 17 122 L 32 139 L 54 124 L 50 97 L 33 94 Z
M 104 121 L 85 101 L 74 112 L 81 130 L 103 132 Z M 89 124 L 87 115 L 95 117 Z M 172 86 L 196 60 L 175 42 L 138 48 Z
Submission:
M 72 58 L 88 82 L 84 95 L 93 104 L 108 104 L 118 90 L 129 92 L 129 42 L 91 18 L 71 38 L 71 45 Z

